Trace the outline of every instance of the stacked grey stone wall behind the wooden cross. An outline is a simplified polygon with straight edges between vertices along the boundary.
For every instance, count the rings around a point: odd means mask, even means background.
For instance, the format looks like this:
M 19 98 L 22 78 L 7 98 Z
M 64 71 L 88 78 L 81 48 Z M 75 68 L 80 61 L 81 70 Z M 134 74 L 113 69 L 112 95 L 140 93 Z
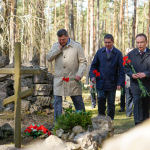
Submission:
M 0 56 L 0 67 L 14 68 L 14 64 L 8 65 L 8 59 Z M 22 111 L 30 111 L 35 113 L 42 111 L 45 108 L 51 108 L 53 105 L 52 87 L 53 75 L 48 72 L 48 68 L 39 67 L 33 63 L 25 63 L 21 65 L 22 68 L 39 68 L 40 75 L 21 75 L 21 90 L 27 90 L 33 87 L 34 92 L 31 96 L 21 100 Z M 3 100 L 14 94 L 14 76 L 7 74 L 0 74 L 0 111 L 14 110 L 14 104 L 3 106 Z

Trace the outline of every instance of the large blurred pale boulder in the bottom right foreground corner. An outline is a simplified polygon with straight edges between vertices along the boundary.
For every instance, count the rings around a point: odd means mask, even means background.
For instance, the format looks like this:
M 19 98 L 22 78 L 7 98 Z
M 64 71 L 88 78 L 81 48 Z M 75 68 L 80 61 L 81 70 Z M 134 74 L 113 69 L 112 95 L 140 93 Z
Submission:
M 103 150 L 149 150 L 149 133 L 150 119 L 135 126 L 128 132 L 106 140 L 103 144 Z

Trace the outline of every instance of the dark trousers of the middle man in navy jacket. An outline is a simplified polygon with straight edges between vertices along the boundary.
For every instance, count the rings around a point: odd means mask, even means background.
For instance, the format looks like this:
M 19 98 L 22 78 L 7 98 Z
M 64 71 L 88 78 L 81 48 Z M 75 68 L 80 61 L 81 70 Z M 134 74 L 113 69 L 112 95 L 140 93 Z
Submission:
M 105 115 L 107 99 L 107 115 L 114 120 L 115 115 L 115 95 L 116 91 L 103 91 L 97 89 L 98 113 Z

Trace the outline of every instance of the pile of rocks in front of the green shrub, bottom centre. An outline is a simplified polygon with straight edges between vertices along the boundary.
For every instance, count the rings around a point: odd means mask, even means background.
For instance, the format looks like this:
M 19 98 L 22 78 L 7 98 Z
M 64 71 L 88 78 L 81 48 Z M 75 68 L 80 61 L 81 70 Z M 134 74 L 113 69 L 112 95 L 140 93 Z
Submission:
M 56 131 L 55 142 L 64 143 L 70 149 L 97 150 L 103 141 L 114 134 L 112 120 L 108 116 L 92 118 L 92 125 L 85 131 L 81 126 L 75 126 L 72 132 L 64 133 L 63 129 Z M 49 137 L 49 142 L 52 137 Z M 68 149 L 69 149 L 68 148 Z

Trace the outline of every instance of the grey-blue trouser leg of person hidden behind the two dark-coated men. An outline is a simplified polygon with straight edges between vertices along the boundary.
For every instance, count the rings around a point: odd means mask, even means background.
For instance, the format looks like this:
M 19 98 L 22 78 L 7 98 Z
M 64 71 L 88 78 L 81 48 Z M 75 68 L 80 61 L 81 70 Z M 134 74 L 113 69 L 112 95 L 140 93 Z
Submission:
M 132 114 L 132 107 L 133 107 L 133 96 L 131 93 L 131 89 L 125 88 L 126 93 L 126 116 L 129 117 Z

